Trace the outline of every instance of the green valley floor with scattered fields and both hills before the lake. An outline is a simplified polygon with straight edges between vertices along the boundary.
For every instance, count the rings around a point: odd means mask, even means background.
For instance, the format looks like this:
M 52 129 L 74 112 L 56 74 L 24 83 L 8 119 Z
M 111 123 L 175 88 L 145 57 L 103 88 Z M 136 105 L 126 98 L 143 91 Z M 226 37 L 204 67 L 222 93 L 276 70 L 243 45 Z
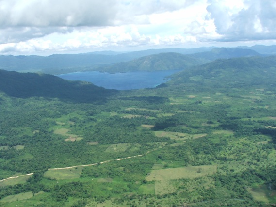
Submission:
M 275 205 L 275 65 L 221 59 L 135 91 L 0 71 L 0 206 Z

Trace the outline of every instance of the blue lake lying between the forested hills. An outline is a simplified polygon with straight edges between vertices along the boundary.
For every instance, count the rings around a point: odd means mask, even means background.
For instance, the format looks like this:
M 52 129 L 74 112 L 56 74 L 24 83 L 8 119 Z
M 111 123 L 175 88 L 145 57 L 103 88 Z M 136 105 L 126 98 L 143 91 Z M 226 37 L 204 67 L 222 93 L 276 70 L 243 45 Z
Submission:
M 82 80 L 92 82 L 107 89 L 131 90 L 154 88 L 168 81 L 168 76 L 180 70 L 135 71 L 127 73 L 103 73 L 98 71 L 75 72 L 58 75 L 65 80 Z

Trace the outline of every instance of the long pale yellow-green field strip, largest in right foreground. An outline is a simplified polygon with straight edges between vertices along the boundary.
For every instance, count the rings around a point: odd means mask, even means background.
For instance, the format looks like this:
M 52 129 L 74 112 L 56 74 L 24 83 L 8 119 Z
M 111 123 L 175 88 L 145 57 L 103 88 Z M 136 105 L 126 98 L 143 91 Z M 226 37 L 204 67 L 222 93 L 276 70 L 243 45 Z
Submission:
M 150 175 L 146 176 L 147 181 L 152 180 L 173 180 L 173 179 L 194 179 L 209 174 L 214 174 L 217 171 L 216 165 L 200 165 L 180 168 L 167 168 L 161 170 L 153 170 Z

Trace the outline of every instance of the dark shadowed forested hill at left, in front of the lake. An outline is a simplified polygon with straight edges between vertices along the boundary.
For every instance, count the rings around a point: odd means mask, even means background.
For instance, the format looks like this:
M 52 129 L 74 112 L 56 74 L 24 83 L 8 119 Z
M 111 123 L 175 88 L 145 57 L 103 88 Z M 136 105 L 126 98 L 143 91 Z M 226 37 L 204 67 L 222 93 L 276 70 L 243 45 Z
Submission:
M 9 96 L 48 97 L 74 101 L 104 100 L 113 94 L 88 82 L 67 81 L 53 75 L 0 70 L 0 90 Z

